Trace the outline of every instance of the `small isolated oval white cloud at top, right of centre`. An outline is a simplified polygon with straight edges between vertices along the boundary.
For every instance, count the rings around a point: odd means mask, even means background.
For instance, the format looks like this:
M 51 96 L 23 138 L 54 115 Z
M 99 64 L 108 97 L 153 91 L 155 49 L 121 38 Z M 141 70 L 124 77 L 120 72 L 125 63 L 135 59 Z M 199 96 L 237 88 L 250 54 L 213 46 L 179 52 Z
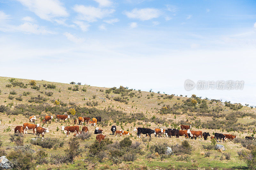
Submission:
M 153 18 L 158 18 L 161 15 L 160 10 L 156 8 L 143 8 L 143 9 L 133 9 L 131 12 L 124 12 L 124 14 L 133 19 L 140 19 L 142 21 L 149 20 Z

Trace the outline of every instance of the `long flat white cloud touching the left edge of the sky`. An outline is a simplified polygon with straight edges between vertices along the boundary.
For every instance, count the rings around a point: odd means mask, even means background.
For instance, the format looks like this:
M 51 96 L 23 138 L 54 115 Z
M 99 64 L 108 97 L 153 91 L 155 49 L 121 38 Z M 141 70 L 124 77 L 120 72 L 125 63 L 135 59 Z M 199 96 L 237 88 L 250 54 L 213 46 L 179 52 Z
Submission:
M 55 32 L 46 30 L 44 27 L 40 27 L 37 24 L 25 22 L 19 26 L 4 25 L 0 27 L 0 31 L 3 32 L 22 32 L 25 34 L 56 34 Z

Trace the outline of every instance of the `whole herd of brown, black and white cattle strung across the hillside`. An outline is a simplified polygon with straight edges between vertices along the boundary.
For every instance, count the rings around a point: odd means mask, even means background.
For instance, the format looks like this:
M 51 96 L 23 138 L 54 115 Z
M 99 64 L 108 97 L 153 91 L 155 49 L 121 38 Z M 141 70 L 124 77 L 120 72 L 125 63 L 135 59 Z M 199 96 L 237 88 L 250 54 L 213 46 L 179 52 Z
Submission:
M 69 119 L 69 115 L 56 115 L 57 121 L 59 122 L 60 120 L 67 120 Z M 53 116 L 45 116 L 44 119 L 42 120 L 42 123 L 49 123 L 51 124 L 53 119 Z M 28 133 L 27 130 L 33 130 L 33 134 L 35 135 L 35 131 L 36 131 L 36 138 L 39 137 L 39 135 L 42 135 L 42 139 L 44 139 L 44 135 L 45 133 L 49 132 L 49 128 L 42 128 L 40 127 L 40 124 L 35 124 L 36 122 L 36 116 L 30 116 L 29 117 L 29 121 L 30 123 L 24 123 L 23 126 L 16 126 L 14 129 L 14 133 L 16 133 L 17 131 L 19 131 L 20 133 L 24 134 Z M 96 118 L 92 118 L 92 121 L 90 120 L 89 117 L 78 117 L 78 124 L 87 124 L 87 126 L 94 126 L 96 127 L 97 123 L 99 123 L 101 121 L 101 117 L 96 117 Z M 77 123 L 77 120 L 74 120 L 74 124 Z M 187 126 L 187 125 L 180 125 L 180 129 L 174 129 L 174 128 L 167 128 L 167 129 L 163 129 L 163 128 L 156 128 L 154 130 L 150 129 L 150 128 L 134 128 L 133 131 L 137 132 L 137 136 L 140 138 L 141 134 L 144 134 L 149 137 L 151 137 L 151 134 L 154 134 L 156 137 L 158 135 L 158 137 L 171 137 L 171 136 L 176 136 L 176 138 L 179 138 L 179 136 L 185 136 L 185 139 L 195 139 L 196 138 L 201 138 L 201 140 L 207 140 L 207 137 L 210 136 L 209 132 L 204 132 L 202 133 L 202 131 L 193 131 L 191 130 L 191 125 Z M 68 137 L 70 132 L 74 132 L 74 136 L 78 136 L 81 133 L 85 133 L 85 132 L 89 132 L 88 127 L 84 126 L 82 128 L 82 131 L 80 133 L 79 130 L 79 126 L 62 126 L 61 127 L 61 131 L 64 132 L 66 134 L 66 136 Z M 119 135 L 120 137 L 122 137 L 122 135 L 130 135 L 129 131 L 124 131 L 124 130 L 117 130 L 116 126 L 112 126 L 111 127 L 111 131 L 112 131 L 112 135 Z M 99 129 L 99 128 L 95 128 L 94 130 L 94 134 L 98 134 L 96 136 L 96 140 L 98 140 L 99 142 L 101 140 L 104 140 L 106 138 L 106 135 L 102 135 L 103 130 Z M 234 138 L 236 138 L 235 135 L 230 135 L 230 134 L 221 134 L 221 133 L 215 133 L 214 136 L 211 136 L 211 140 L 215 139 L 217 140 L 217 142 L 221 142 L 221 139 L 223 140 L 223 142 L 227 142 L 227 139 L 233 140 Z M 251 136 L 246 136 L 245 139 L 248 140 L 254 140 L 254 137 Z

